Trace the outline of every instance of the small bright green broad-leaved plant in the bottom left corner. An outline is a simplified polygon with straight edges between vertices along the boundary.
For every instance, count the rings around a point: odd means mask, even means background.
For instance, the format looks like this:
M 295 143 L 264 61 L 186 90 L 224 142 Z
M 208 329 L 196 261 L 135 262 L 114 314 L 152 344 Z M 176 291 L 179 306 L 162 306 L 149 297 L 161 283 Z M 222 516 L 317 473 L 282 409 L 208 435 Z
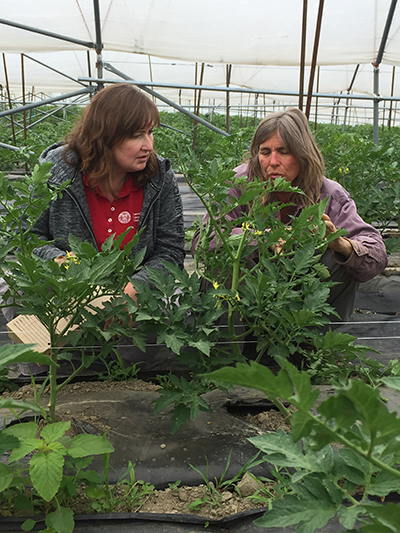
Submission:
M 46 514 L 50 531 L 72 533 L 73 512 L 68 502 L 81 483 L 100 484 L 95 471 L 87 470 L 93 455 L 109 454 L 113 446 L 104 437 L 77 435 L 68 437 L 70 422 L 55 422 L 39 431 L 34 422 L 17 424 L 0 431 L 0 449 L 12 450 L 8 464 L 0 465 L 0 492 L 3 505 Z M 24 460 L 25 459 L 25 460 Z M 73 472 L 66 474 L 65 472 Z M 36 521 L 24 522 L 30 531 Z

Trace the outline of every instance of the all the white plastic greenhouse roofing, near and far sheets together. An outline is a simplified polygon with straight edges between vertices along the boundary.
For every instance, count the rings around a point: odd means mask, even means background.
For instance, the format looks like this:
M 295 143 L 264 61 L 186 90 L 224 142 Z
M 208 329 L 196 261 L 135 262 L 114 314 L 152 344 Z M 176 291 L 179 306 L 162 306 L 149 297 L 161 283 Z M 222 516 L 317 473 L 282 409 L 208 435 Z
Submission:
M 0 17 L 83 41 L 96 41 L 93 0 L 0 0 Z M 318 0 L 308 0 L 306 64 L 311 62 Z M 355 93 L 373 93 L 373 68 L 391 0 L 325 0 L 318 50 L 319 92 L 346 91 L 356 64 Z M 203 85 L 224 86 L 232 64 L 231 86 L 297 92 L 302 32 L 301 0 L 99 0 L 103 59 L 136 80 L 194 84 L 194 62 L 206 64 Z M 86 48 L 60 39 L 0 24 L 14 96 L 21 94 L 20 53 L 39 59 L 73 79 L 88 76 Z M 96 76 L 96 53 L 89 53 Z M 149 59 L 149 56 L 151 58 Z M 79 86 L 60 74 L 25 60 L 26 90 L 57 93 Z M 390 95 L 392 66 L 400 65 L 400 8 L 395 11 L 381 65 L 380 93 Z M 200 67 L 197 83 L 199 82 Z M 116 79 L 104 72 L 104 77 Z M 0 83 L 5 84 L 3 64 Z M 306 72 L 305 91 L 308 75 Z M 317 78 L 314 91 L 317 89 Z M 157 89 L 182 103 L 193 91 Z M 400 96 L 400 83 L 394 95 Z M 223 93 L 203 98 L 222 101 Z M 272 96 L 279 101 L 290 97 Z M 250 97 L 232 96 L 248 103 Z M 292 98 L 293 100 L 293 98 Z M 203 100 L 204 101 L 204 100 Z M 251 102 L 254 98 L 251 97 Z

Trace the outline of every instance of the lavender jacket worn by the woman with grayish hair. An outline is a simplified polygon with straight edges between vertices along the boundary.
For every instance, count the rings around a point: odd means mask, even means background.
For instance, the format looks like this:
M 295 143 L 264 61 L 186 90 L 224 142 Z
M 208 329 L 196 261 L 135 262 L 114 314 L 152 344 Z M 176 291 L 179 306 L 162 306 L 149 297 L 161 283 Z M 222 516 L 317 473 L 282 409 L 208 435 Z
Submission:
M 236 176 L 247 174 L 247 164 L 235 168 Z M 239 189 L 231 189 L 230 194 L 240 198 Z M 346 229 L 349 234 L 346 238 L 353 247 L 353 253 L 343 261 L 341 254 L 331 250 L 336 263 L 343 265 L 350 279 L 359 282 L 365 282 L 382 272 L 387 266 L 386 248 L 382 237 L 375 228 L 364 220 L 357 213 L 357 207 L 349 193 L 336 181 L 323 178 L 321 187 L 321 200 L 329 197 L 325 213 L 332 220 L 337 228 Z M 294 216 L 298 216 L 301 207 L 297 208 Z M 236 220 L 248 213 L 248 206 L 240 206 L 233 209 L 228 215 L 227 220 Z M 208 220 L 208 215 L 203 218 L 203 223 Z M 242 228 L 234 228 L 234 233 L 241 233 Z M 192 253 L 197 246 L 199 231 L 195 233 L 192 242 Z M 214 243 L 215 245 L 215 243 Z

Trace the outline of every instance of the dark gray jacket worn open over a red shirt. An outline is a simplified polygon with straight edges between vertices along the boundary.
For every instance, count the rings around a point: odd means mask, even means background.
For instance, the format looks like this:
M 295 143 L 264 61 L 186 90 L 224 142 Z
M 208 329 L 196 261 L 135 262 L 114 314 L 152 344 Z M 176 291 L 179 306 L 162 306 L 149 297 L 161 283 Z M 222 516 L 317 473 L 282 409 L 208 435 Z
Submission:
M 54 241 L 35 249 L 35 253 L 46 260 L 66 254 L 70 249 L 70 234 L 97 248 L 81 172 L 64 161 L 63 150 L 64 145 L 56 143 L 40 156 L 40 163 L 53 163 L 48 180 L 50 186 L 59 186 L 71 180 L 62 198 L 50 203 L 33 229 L 40 238 Z M 158 161 L 159 172 L 143 189 L 138 230 L 144 230 L 132 249 L 132 255 L 146 248 L 143 267 L 161 268 L 161 261 L 182 267 L 185 257 L 182 200 L 170 161 L 161 157 Z M 133 279 L 148 281 L 146 269 L 141 268 Z

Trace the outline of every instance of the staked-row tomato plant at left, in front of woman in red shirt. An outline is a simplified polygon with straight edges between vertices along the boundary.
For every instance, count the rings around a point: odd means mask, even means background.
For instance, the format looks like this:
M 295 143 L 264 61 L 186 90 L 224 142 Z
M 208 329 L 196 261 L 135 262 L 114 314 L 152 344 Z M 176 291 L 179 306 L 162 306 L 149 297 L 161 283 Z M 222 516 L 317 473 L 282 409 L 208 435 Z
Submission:
M 71 236 L 70 250 L 75 257 L 70 257 L 60 267 L 54 261 L 39 258 L 34 253 L 35 248 L 48 243 L 40 241 L 31 230 L 48 203 L 63 194 L 65 189 L 65 186 L 60 189 L 48 187 L 48 170 L 48 164 L 36 166 L 26 180 L 13 183 L 0 176 L 0 205 L 4 212 L 0 236 L 7 240 L 7 246 L 0 254 L 0 264 L 9 286 L 4 300 L 10 298 L 11 305 L 18 306 L 21 314 L 38 317 L 49 333 L 51 347 L 50 355 L 25 351 L 22 356 L 19 356 L 20 348 L 5 348 L 4 364 L 12 360 L 50 365 L 49 415 L 54 421 L 58 391 L 83 368 L 87 368 L 96 356 L 104 357 L 113 349 L 115 336 L 126 334 L 129 330 L 122 324 L 131 321 L 134 325 L 133 316 L 137 308 L 133 303 L 127 304 L 122 293 L 140 265 L 145 250 L 136 254 L 133 260 L 126 261 L 139 235 L 124 250 L 120 250 L 124 235 L 115 241 L 110 237 L 101 252 Z M 13 250 L 15 258 L 10 258 L 9 252 Z M 109 301 L 99 306 L 96 303 L 99 297 Z M 133 329 L 132 337 L 134 342 L 137 338 L 137 344 L 142 343 L 143 336 Z M 90 353 L 85 347 L 95 346 L 96 341 L 99 350 Z M 71 359 L 72 351 L 80 349 L 82 362 L 64 382 L 58 384 L 56 363 L 61 346 L 66 344 L 68 346 L 62 349 L 62 357 Z M 7 350 L 11 350 L 10 356 Z

